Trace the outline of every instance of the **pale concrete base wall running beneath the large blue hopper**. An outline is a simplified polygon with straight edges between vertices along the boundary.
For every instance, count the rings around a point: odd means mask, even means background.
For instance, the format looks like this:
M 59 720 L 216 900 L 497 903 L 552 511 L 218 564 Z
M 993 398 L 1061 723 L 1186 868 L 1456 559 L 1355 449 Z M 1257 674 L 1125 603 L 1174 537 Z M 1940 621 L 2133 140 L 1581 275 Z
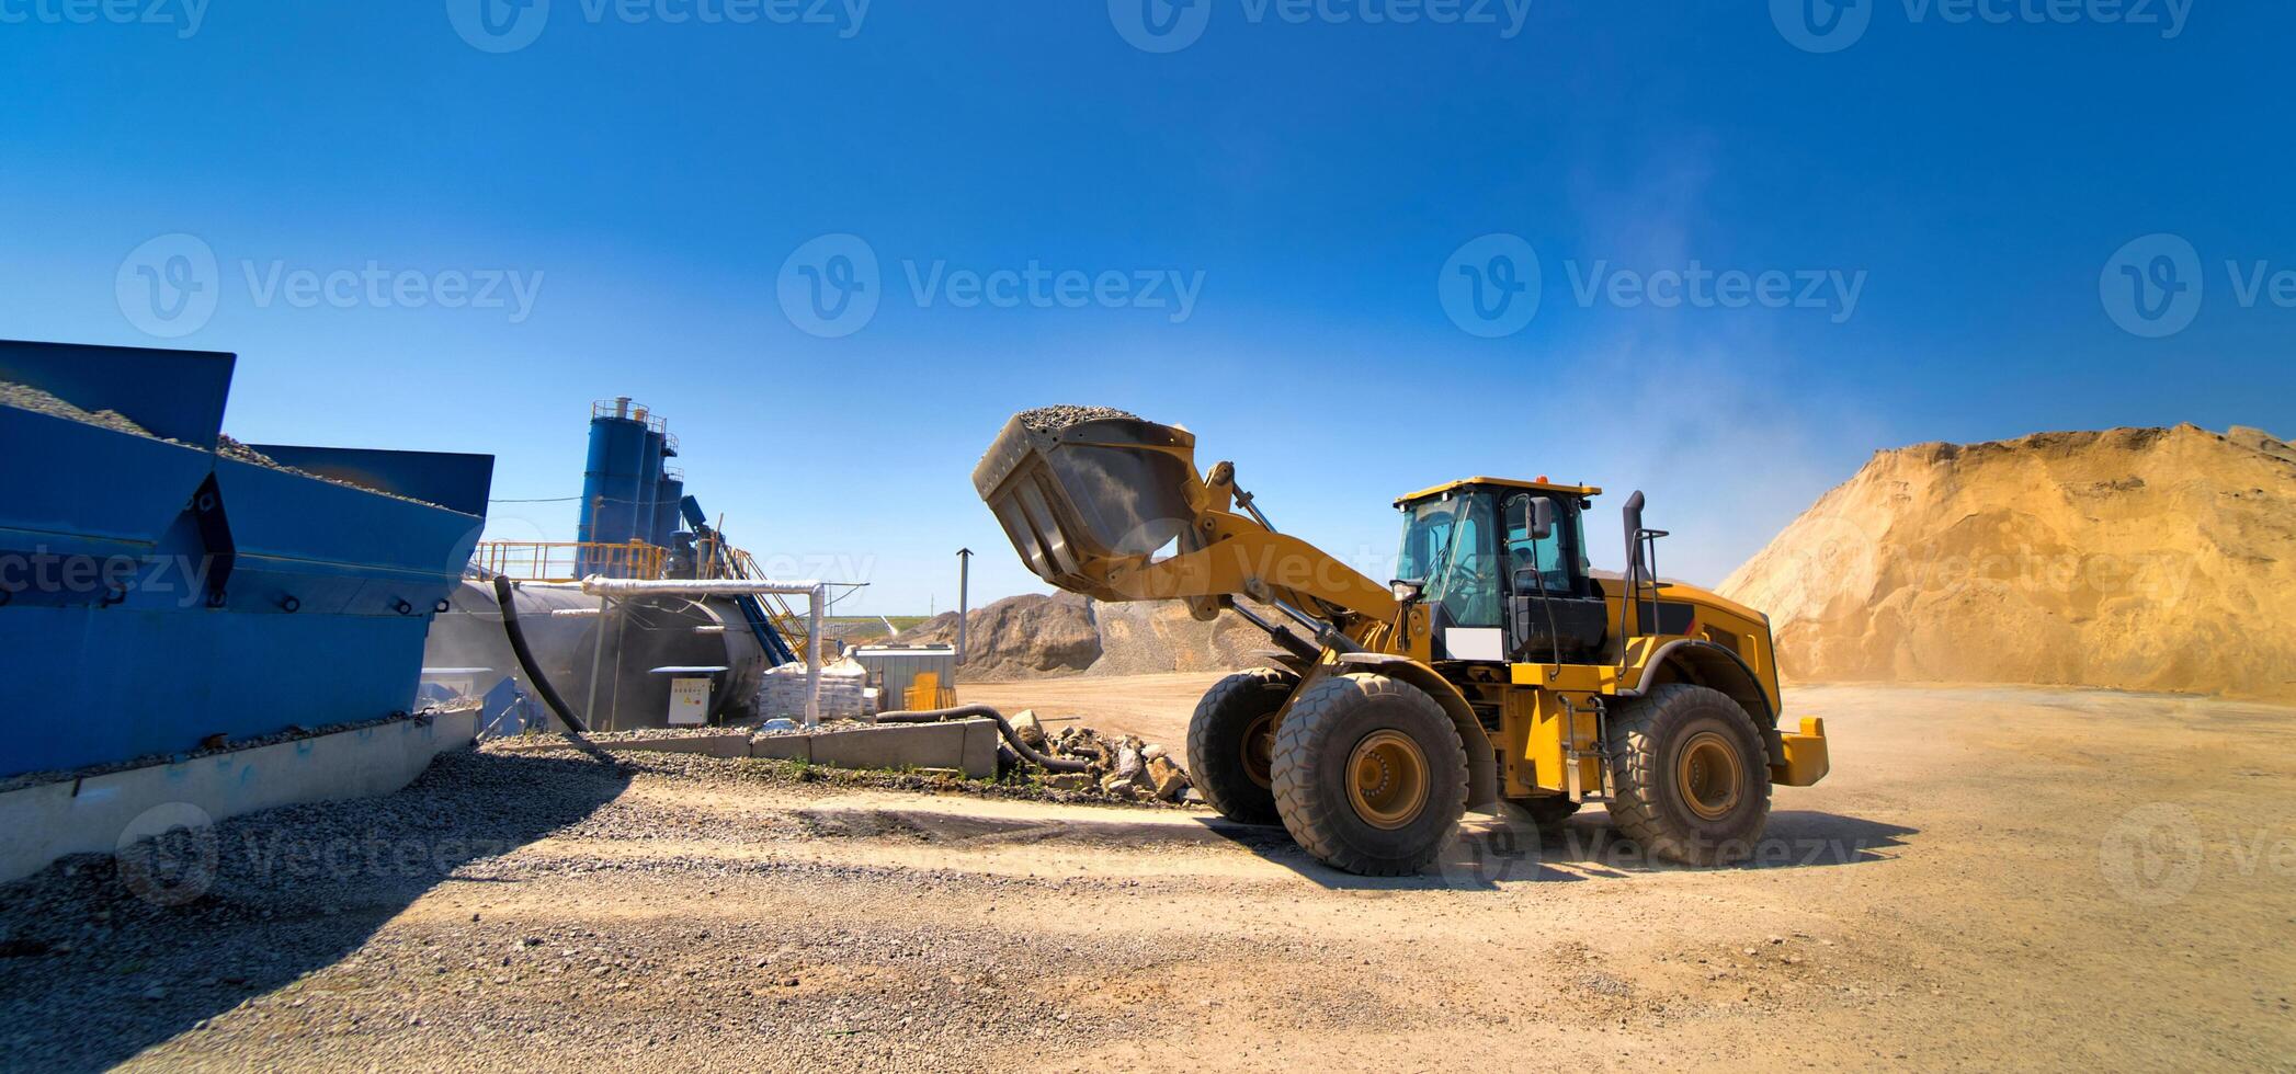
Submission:
M 108 771 L 0 794 L 0 884 L 67 854 L 115 854 L 170 826 L 202 826 L 301 801 L 372 799 L 406 787 L 445 750 L 471 746 L 478 709 Z

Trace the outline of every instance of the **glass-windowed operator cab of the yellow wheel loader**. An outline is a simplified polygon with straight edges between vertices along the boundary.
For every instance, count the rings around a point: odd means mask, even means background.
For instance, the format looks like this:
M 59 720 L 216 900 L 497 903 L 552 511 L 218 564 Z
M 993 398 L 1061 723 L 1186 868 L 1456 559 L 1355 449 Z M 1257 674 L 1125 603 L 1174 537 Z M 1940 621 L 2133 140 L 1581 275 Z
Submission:
M 1580 661 L 1603 649 L 1609 620 L 1587 576 L 1582 526 L 1598 491 L 1469 477 L 1396 500 L 1396 581 L 1419 585 L 1437 661 Z

